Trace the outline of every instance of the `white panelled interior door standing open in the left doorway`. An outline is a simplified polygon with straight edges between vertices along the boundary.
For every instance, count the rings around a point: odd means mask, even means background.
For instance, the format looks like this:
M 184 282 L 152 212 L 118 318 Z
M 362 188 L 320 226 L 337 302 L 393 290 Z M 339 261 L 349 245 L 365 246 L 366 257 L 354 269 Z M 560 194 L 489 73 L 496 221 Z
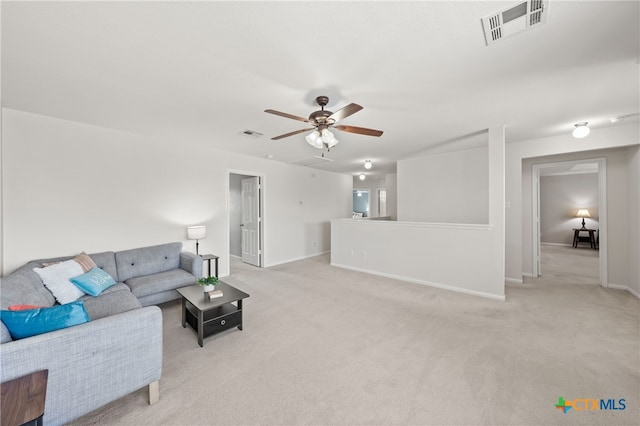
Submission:
M 260 177 L 242 179 L 242 261 L 261 266 Z

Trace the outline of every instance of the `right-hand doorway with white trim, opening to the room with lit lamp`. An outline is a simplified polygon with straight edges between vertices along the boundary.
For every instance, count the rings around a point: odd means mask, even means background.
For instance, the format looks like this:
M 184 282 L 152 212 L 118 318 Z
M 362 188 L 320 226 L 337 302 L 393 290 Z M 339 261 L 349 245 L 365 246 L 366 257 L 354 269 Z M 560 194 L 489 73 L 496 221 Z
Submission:
M 580 176 L 587 174 L 591 174 L 590 180 L 586 178 L 581 180 Z M 606 287 L 608 235 L 606 159 L 534 164 L 531 182 L 533 185 L 531 191 L 533 277 L 544 275 L 543 260 L 548 262 L 550 253 L 561 252 L 561 250 L 559 251 L 561 246 L 565 248 L 571 246 L 571 251 L 575 253 L 569 253 L 565 250 L 569 255 L 567 259 L 570 259 L 571 255 L 577 254 L 575 251 L 578 249 L 577 243 L 585 242 L 583 239 L 588 235 L 586 237 L 588 250 L 596 250 L 595 256 L 599 257 L 597 268 L 599 277 L 596 281 Z M 582 185 L 584 182 L 591 182 L 589 185 L 595 185 L 590 195 L 585 195 L 585 193 L 589 194 L 588 190 L 581 193 L 575 189 L 580 187 L 580 182 Z M 562 193 L 562 191 L 565 192 Z M 591 215 L 591 218 L 585 223 L 586 227 L 583 231 L 581 220 L 584 218 L 578 217 L 578 210 L 587 209 L 587 205 L 591 206 L 592 211 L 595 211 L 594 215 Z M 592 230 L 593 234 L 588 232 L 589 230 Z M 595 241 L 591 241 L 592 235 L 595 235 Z M 576 241 L 576 236 L 579 236 L 580 240 Z M 554 245 L 556 247 L 553 247 Z M 589 254 L 595 257 L 592 253 Z M 552 263 L 547 265 L 548 272 L 553 272 L 554 265 Z

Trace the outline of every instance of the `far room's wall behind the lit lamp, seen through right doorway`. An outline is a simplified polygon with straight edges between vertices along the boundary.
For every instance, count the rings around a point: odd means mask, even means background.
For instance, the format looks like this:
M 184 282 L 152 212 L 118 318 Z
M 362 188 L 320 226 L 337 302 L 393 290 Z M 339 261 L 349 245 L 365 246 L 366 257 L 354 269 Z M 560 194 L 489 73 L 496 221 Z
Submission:
M 573 244 L 573 229 L 582 226 L 578 209 L 589 210 L 585 226 L 598 229 L 597 173 L 540 176 L 541 242 Z

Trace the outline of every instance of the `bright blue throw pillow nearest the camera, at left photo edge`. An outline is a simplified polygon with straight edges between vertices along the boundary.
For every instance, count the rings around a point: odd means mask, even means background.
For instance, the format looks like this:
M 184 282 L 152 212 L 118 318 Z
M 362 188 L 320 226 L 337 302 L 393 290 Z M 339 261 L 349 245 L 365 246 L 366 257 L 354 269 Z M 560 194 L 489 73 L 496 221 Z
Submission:
M 51 308 L 0 311 L 0 319 L 9 329 L 14 340 L 60 330 L 91 320 L 82 300 Z

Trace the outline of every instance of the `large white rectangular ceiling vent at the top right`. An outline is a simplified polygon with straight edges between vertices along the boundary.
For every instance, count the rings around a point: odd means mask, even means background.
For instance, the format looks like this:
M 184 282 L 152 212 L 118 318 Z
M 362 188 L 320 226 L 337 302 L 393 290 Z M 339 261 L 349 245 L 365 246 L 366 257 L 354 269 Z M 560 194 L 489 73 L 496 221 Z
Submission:
M 487 46 L 526 29 L 544 24 L 549 0 L 526 0 L 482 18 Z

